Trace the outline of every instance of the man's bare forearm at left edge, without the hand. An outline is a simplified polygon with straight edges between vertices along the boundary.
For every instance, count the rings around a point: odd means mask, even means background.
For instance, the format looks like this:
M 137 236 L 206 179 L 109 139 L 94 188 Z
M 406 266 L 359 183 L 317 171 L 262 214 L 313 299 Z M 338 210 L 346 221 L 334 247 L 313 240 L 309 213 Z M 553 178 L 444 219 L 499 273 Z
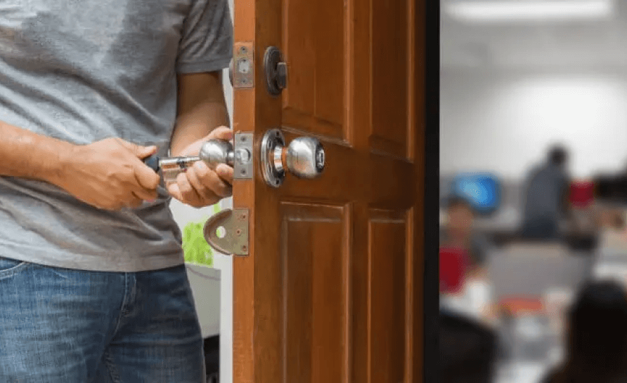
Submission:
M 0 121 L 0 175 L 54 183 L 73 147 Z

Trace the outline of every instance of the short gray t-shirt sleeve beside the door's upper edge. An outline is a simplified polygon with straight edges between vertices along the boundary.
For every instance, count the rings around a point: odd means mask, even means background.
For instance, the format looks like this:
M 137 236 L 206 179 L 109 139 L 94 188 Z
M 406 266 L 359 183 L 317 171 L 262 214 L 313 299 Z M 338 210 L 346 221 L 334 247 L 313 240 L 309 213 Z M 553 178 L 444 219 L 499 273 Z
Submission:
M 183 23 L 176 72 L 215 72 L 233 55 L 233 22 L 227 0 L 196 0 Z

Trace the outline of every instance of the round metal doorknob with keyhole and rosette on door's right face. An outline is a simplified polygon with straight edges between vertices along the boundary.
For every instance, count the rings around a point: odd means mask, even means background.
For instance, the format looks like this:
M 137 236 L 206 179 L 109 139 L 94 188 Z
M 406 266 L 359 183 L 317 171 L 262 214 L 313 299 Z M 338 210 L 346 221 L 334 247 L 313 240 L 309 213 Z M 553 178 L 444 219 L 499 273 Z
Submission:
M 320 177 L 325 168 L 325 152 L 321 142 L 314 137 L 298 137 L 285 147 L 285 137 L 278 129 L 266 132 L 261 140 L 261 168 L 264 180 L 279 187 L 286 170 L 297 178 Z

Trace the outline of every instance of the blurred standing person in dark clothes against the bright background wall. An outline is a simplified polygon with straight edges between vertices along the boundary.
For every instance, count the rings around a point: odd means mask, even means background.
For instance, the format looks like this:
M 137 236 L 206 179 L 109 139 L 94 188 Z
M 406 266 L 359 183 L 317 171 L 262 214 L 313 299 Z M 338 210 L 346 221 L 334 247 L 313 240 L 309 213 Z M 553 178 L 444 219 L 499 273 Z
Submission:
M 560 221 L 568 214 L 569 175 L 567 152 L 554 147 L 548 161 L 531 170 L 526 182 L 522 236 L 528 239 L 557 239 Z

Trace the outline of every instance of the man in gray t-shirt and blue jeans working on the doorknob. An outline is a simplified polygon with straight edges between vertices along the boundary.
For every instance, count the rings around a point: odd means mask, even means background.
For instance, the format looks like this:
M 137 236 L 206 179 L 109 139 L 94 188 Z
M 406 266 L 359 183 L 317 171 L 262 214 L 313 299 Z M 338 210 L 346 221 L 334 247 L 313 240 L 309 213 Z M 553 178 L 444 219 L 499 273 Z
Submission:
M 226 0 L 9 0 L 0 13 L 0 382 L 204 382 L 170 196 L 142 159 L 230 140 Z

